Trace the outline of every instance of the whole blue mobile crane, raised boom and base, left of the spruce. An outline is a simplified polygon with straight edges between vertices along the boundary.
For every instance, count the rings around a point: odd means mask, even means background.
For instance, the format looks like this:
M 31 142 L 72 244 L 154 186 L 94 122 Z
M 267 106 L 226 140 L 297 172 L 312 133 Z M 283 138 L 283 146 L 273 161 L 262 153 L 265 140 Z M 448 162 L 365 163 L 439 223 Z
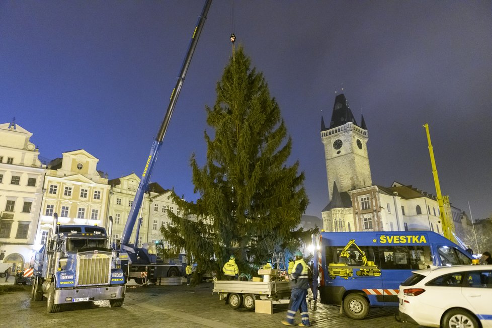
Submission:
M 140 206 L 142 205 L 142 200 L 145 192 L 148 190 L 150 176 L 152 174 L 155 162 L 157 160 L 157 155 L 159 153 L 160 147 L 162 145 L 162 140 L 166 134 L 166 130 L 169 125 L 169 121 L 171 119 L 171 115 L 173 114 L 173 110 L 178 101 L 179 94 L 181 92 L 181 87 L 183 86 L 183 82 L 185 80 L 186 72 L 188 71 L 188 67 L 190 66 L 191 59 L 193 57 L 193 53 L 195 51 L 196 45 L 198 43 L 198 39 L 203 29 L 203 25 L 205 24 L 205 20 L 207 18 L 207 13 L 212 4 L 212 0 L 207 0 L 205 5 L 203 6 L 203 10 L 201 15 L 198 17 L 198 22 L 193 31 L 193 35 L 191 37 L 190 45 L 188 47 L 188 52 L 186 54 L 185 60 L 183 61 L 180 75 L 178 76 L 178 80 L 175 88 L 173 89 L 170 97 L 170 102 L 168 105 L 168 109 L 166 111 L 166 115 L 162 120 L 160 128 L 157 132 L 155 139 L 152 142 L 152 146 L 150 147 L 150 153 L 147 156 L 145 167 L 143 169 L 143 173 L 141 176 L 140 184 L 138 185 L 137 191 L 135 193 L 135 198 L 133 200 L 133 204 L 130 209 L 130 213 L 128 214 L 128 219 L 126 221 L 125 227 L 123 229 L 120 241 L 120 254 L 119 254 L 119 264 L 121 268 L 124 270 L 125 274 L 128 278 L 135 279 L 136 282 L 142 282 L 144 279 L 155 279 L 157 276 L 177 276 L 179 275 L 178 266 L 169 266 L 158 264 L 158 259 L 156 256 L 156 252 L 149 252 L 149 249 L 144 245 L 143 248 L 137 247 L 138 245 L 138 230 L 140 224 L 137 224 L 136 231 L 136 240 L 134 243 L 130 242 L 130 237 L 137 221 L 138 211 Z M 155 247 L 155 245 L 154 245 Z M 162 272 L 165 269 L 166 272 Z

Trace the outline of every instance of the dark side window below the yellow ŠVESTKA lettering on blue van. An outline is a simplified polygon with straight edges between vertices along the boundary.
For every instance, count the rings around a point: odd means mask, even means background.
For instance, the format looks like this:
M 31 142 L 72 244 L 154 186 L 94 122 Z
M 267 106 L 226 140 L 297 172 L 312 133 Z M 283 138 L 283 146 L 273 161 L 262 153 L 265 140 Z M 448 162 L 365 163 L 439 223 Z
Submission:
M 379 247 L 381 269 L 419 270 L 432 265 L 429 246 Z

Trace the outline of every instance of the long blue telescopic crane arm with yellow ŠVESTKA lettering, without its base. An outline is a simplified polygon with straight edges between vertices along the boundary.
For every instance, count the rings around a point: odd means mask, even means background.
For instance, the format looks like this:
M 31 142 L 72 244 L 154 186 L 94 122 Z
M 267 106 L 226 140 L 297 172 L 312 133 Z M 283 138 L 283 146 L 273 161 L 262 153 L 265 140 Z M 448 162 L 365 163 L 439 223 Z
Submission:
M 152 170 L 155 165 L 155 161 L 157 160 L 157 155 L 159 154 L 160 146 L 162 145 L 162 140 L 164 140 L 164 135 L 166 134 L 166 130 L 168 129 L 169 121 L 171 119 L 171 115 L 173 114 L 174 107 L 176 102 L 178 101 L 179 94 L 181 92 L 181 87 L 183 86 L 183 82 L 185 80 L 186 72 L 188 71 L 188 67 L 191 63 L 191 58 L 193 57 L 193 53 L 195 52 L 196 45 L 198 43 L 198 39 L 203 29 L 203 25 L 205 24 L 205 20 L 207 19 L 207 13 L 210 9 L 210 5 L 212 4 L 212 0 L 207 0 L 205 5 L 203 6 L 203 10 L 201 15 L 198 17 L 197 25 L 193 30 L 193 35 L 191 37 L 190 45 L 188 47 L 188 52 L 186 54 L 185 60 L 181 66 L 180 75 L 178 76 L 178 81 L 176 82 L 176 86 L 171 93 L 171 98 L 169 99 L 168 109 L 166 111 L 166 115 L 162 120 L 159 131 L 155 137 L 155 140 L 152 142 L 152 147 L 150 148 L 150 153 L 147 157 L 147 161 L 145 163 L 145 168 L 143 169 L 142 178 L 140 180 L 140 184 L 138 185 L 137 192 L 135 194 L 135 198 L 133 200 L 133 204 L 130 209 L 130 213 L 128 214 L 128 220 L 126 220 L 125 228 L 123 229 L 123 233 L 121 235 L 121 244 L 129 245 L 130 236 L 133 231 L 133 227 L 135 226 L 135 222 L 137 220 L 138 211 L 140 206 L 142 205 L 142 200 L 145 192 L 148 190 L 148 185 L 150 182 L 150 175 L 152 174 Z

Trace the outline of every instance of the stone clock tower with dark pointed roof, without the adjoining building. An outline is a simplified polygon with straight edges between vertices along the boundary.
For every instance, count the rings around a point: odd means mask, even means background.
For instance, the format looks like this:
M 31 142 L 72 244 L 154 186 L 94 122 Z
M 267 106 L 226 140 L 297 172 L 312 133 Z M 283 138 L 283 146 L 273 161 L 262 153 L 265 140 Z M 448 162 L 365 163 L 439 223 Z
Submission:
M 357 124 L 344 94 L 335 98 L 330 126 L 321 117 L 321 141 L 324 144 L 326 176 L 330 199 L 333 185 L 339 192 L 372 185 L 364 117 Z

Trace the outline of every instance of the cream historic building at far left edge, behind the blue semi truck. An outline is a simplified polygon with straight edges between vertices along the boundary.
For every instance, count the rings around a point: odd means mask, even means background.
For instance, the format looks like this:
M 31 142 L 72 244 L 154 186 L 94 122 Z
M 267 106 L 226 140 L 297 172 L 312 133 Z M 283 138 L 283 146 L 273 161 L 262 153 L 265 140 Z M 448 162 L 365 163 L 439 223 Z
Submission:
M 31 136 L 14 122 L 0 124 L 0 261 L 21 268 L 33 255 L 45 173 Z

